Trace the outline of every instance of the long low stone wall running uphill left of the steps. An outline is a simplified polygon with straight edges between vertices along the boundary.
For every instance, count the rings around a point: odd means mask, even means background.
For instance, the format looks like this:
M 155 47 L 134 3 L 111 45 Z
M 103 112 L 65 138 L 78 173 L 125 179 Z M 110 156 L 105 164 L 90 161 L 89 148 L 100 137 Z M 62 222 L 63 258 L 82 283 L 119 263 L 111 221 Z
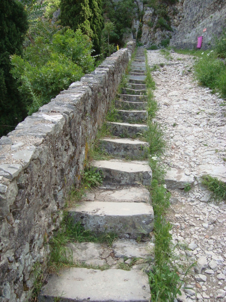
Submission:
M 129 42 L 130 51 L 135 41 Z M 119 50 L 0 140 L 0 301 L 22 302 L 129 61 Z

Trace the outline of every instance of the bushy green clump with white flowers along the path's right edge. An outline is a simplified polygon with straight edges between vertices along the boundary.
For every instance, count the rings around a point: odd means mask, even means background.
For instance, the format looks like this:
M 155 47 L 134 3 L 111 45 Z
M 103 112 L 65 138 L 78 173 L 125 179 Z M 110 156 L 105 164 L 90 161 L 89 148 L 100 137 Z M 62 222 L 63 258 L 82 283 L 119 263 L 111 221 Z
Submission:
M 194 65 L 196 79 L 206 87 L 214 89 L 223 70 L 223 62 L 213 56 L 203 56 Z

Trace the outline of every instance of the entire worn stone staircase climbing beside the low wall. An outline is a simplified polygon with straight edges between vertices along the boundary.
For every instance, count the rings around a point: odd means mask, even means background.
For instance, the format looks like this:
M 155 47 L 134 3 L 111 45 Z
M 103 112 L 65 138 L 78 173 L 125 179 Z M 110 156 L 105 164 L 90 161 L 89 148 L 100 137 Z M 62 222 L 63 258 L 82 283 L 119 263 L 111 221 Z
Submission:
M 111 248 L 99 243 L 69 246 L 76 262 L 109 268 L 73 267 L 49 275 L 39 301 L 49 302 L 57 297 L 76 302 L 149 302 L 151 299 L 148 276 L 140 268 L 147 260 L 148 263 L 154 260 L 154 244 L 150 239 L 154 213 L 150 193 L 144 187 L 150 185 L 152 171 L 147 161 L 138 160 L 145 157 L 148 144 L 136 138 L 147 129 L 145 70 L 143 49 L 138 49 L 127 87 L 115 102 L 123 122 L 108 122 L 113 138 L 99 141 L 99 148 L 115 159 L 92 162 L 103 173 L 103 185 L 87 193 L 79 207 L 69 209 L 74 223 L 80 222 L 86 230 L 118 234 L 119 239 Z M 131 124 L 131 120 L 143 120 L 144 124 Z M 125 161 L 126 156 L 134 160 Z M 142 240 L 144 237 L 146 240 Z M 120 263 L 131 263 L 133 257 L 139 258 L 139 262 L 134 262 L 130 271 L 118 268 Z

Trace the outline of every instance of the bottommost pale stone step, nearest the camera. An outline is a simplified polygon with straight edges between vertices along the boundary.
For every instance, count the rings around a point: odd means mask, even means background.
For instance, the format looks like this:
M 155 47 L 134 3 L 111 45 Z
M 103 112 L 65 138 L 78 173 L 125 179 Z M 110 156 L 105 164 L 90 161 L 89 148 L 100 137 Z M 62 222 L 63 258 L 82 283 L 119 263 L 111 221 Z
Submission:
M 94 270 L 68 268 L 51 274 L 40 293 L 39 302 L 61 297 L 71 302 L 149 302 L 148 276 L 140 270 Z

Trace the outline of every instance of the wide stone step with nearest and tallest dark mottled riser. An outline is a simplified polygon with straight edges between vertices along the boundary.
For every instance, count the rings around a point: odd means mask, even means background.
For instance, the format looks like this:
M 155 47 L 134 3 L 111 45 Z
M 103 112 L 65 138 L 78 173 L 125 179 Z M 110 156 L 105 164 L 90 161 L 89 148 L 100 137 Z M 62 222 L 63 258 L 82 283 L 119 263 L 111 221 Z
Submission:
M 68 213 L 72 223 L 80 222 L 96 234 L 113 232 L 119 238 L 136 239 L 153 230 L 153 208 L 143 202 L 83 201 Z

